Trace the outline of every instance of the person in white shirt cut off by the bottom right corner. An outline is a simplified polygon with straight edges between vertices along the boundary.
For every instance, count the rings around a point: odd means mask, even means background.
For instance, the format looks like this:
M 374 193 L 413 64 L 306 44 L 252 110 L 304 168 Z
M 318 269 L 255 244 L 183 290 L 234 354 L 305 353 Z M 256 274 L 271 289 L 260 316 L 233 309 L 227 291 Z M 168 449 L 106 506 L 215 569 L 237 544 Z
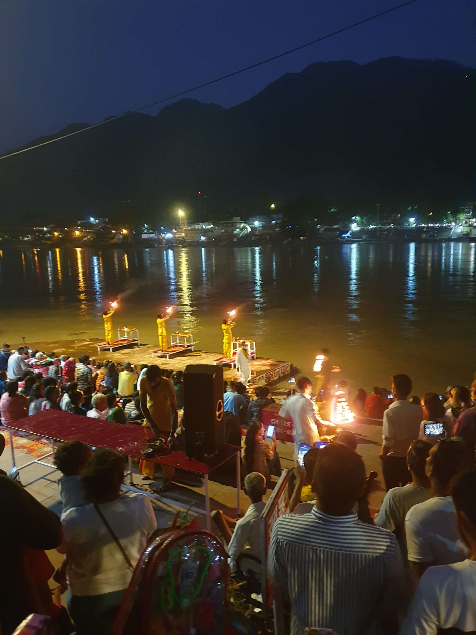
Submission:
M 451 495 L 459 533 L 470 556 L 423 573 L 400 635 L 435 635 L 439 629 L 476 632 L 476 472 L 459 474 Z

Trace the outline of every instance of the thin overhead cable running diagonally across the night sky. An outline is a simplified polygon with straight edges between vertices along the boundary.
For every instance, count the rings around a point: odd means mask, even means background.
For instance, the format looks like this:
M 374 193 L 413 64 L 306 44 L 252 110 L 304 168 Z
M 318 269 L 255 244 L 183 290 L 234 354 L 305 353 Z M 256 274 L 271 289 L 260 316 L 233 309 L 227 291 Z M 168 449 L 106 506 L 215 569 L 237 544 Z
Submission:
M 366 22 L 371 22 L 371 20 L 376 20 L 376 18 L 381 18 L 383 15 L 388 15 L 388 13 L 392 13 L 393 11 L 398 11 L 409 4 L 414 4 L 418 2 L 418 0 L 407 0 L 402 4 L 397 4 L 397 6 L 393 6 L 390 9 L 385 11 L 380 11 L 380 13 L 376 13 L 374 15 L 369 16 L 368 18 L 364 18 L 363 20 L 359 20 L 359 22 L 354 22 L 352 24 L 348 24 L 347 27 L 342 27 L 332 33 L 327 33 L 325 36 L 317 37 L 316 39 L 307 42 L 306 44 L 301 44 L 300 46 L 295 46 L 294 48 L 289 49 L 288 51 L 284 51 L 284 53 L 278 53 L 278 55 L 273 55 L 273 57 L 268 57 L 265 60 L 261 60 L 261 62 L 256 62 L 255 64 L 251 64 L 239 70 L 234 70 L 227 75 L 222 75 L 221 77 L 216 77 L 215 79 L 211 79 L 210 81 L 205 82 L 204 84 L 199 84 L 198 86 L 194 86 L 194 88 L 187 88 L 187 90 L 183 90 L 180 93 L 175 93 L 175 95 L 169 95 L 169 97 L 164 97 L 162 99 L 157 100 L 156 102 L 152 102 L 152 104 L 147 104 L 146 106 L 142 106 L 140 108 L 136 108 L 135 110 L 128 110 L 127 112 L 122 113 L 121 115 L 116 115 L 112 117 L 108 117 L 103 121 L 99 121 L 87 128 L 81 128 L 81 130 L 76 130 L 74 132 L 70 132 L 67 135 L 62 135 L 61 137 L 55 137 L 54 139 L 50 139 L 49 141 L 44 141 L 41 144 L 30 145 L 27 148 L 23 148 L 22 150 L 17 150 L 16 152 L 10 152 L 10 154 L 4 154 L 0 157 L 0 161 L 2 159 L 8 159 L 9 157 L 16 156 L 17 154 L 22 154 L 23 152 L 28 152 L 29 150 L 34 150 L 36 148 L 43 147 L 43 145 L 53 144 L 55 141 L 60 141 L 62 139 L 66 139 L 68 137 L 74 137 L 74 135 L 79 135 L 81 132 L 86 132 L 86 130 L 93 130 L 93 128 L 98 128 L 98 126 L 103 126 L 111 121 L 117 121 L 117 119 L 121 119 L 122 117 L 127 117 L 128 115 L 134 114 L 136 112 L 141 112 L 142 110 L 147 110 L 148 108 L 152 108 L 152 106 L 157 106 L 159 104 L 163 104 L 164 102 L 168 102 L 171 99 L 175 99 L 176 97 L 182 97 L 183 95 L 188 95 L 188 93 L 192 93 L 195 90 L 199 90 L 200 88 L 205 88 L 206 86 L 211 86 L 211 84 L 216 84 L 219 81 L 223 81 L 223 79 L 228 79 L 229 77 L 234 77 L 235 75 L 239 75 L 241 73 L 246 72 L 247 70 L 252 70 L 258 68 L 258 66 L 262 66 L 263 64 L 268 64 L 268 62 L 273 62 L 274 60 L 279 60 L 279 58 L 284 57 L 285 55 L 290 55 L 290 53 L 295 53 L 296 51 L 301 51 L 303 48 L 307 48 L 308 46 L 312 46 L 312 44 L 317 44 L 318 42 L 322 42 L 329 37 L 336 36 L 344 31 L 348 31 L 349 29 L 354 29 L 354 27 L 359 27 L 361 24 L 365 24 Z

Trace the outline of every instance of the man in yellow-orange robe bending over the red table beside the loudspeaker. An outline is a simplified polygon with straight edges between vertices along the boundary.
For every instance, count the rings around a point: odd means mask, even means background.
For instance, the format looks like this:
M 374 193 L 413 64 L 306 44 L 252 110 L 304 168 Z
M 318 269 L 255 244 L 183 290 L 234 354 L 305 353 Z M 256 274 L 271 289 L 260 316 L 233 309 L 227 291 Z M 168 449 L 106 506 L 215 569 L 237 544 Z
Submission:
M 171 380 L 162 377 L 159 366 L 153 364 L 140 380 L 140 409 L 145 417 L 143 425 L 152 428 L 155 437 L 168 439 L 172 445 L 178 425 L 177 401 Z M 155 463 L 141 460 L 139 471 L 145 478 L 154 478 Z M 173 467 L 162 465 L 167 479 L 174 474 Z

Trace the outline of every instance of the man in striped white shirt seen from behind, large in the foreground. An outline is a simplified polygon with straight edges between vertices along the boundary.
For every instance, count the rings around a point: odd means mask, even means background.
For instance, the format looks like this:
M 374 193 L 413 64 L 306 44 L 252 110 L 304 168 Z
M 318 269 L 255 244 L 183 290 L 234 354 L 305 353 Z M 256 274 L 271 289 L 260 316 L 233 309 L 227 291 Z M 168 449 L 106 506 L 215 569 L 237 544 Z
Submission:
M 352 512 L 362 493 L 362 458 L 332 443 L 317 455 L 309 514 L 286 514 L 272 530 L 268 564 L 291 599 L 291 635 L 306 627 L 339 635 L 396 634 L 404 572 L 392 533 Z

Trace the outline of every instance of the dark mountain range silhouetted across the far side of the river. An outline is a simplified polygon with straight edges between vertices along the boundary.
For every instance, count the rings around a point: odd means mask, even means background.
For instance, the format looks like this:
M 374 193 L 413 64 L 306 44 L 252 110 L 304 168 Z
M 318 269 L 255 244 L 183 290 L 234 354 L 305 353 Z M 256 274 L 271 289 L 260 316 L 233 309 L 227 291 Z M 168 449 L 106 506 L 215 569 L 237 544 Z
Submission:
M 473 69 L 444 60 L 319 62 L 230 109 L 186 99 L 130 114 L 0 161 L 0 220 L 83 217 L 124 199 L 162 222 L 178 204 L 204 220 L 303 196 L 470 200 L 472 84 Z

